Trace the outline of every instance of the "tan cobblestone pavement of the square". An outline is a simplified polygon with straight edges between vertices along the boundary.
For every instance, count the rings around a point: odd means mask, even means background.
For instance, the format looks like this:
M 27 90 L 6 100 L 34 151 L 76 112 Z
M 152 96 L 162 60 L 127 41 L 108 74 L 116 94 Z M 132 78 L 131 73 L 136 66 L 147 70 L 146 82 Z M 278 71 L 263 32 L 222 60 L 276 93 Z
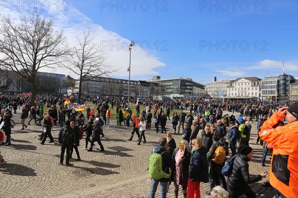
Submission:
M 225 112 L 227 113 L 227 112 Z M 230 113 L 229 113 L 230 114 Z M 237 113 L 234 115 L 238 116 Z M 99 152 L 95 143 L 93 152 L 82 150 L 85 139 L 80 141 L 79 154 L 81 161 L 75 161 L 73 153 L 73 167 L 59 165 L 60 147 L 58 144 L 59 128 L 54 127 L 52 134 L 54 143 L 39 144 L 37 139 L 41 127 L 30 125 L 25 131 L 20 131 L 20 112 L 13 116 L 17 125 L 12 130 L 11 146 L 0 147 L 6 164 L 0 165 L 0 197 L 11 198 L 148 198 L 150 179 L 148 174 L 148 161 L 151 149 L 157 145 L 159 138 L 164 134 L 156 134 L 154 130 L 147 130 L 147 144 L 137 145 L 137 136 L 128 142 L 132 127 L 122 126 L 120 129 L 104 127 L 105 137 L 102 144 L 105 152 Z M 26 119 L 26 123 L 28 119 Z M 31 122 L 34 123 L 34 122 Z M 171 122 L 167 121 L 168 132 L 173 132 Z M 115 126 L 115 120 L 111 121 Z M 269 170 L 269 166 L 261 166 L 263 148 L 256 145 L 256 123 L 252 124 L 250 146 L 254 148 L 254 156 L 249 162 L 251 175 Z M 176 143 L 182 138 L 174 136 Z M 266 164 L 269 164 L 267 156 Z M 86 171 L 84 171 L 86 170 Z M 77 176 L 74 173 L 91 175 Z M 267 180 L 267 178 L 265 179 Z M 259 197 L 272 198 L 272 189 L 262 189 L 265 180 L 251 185 Z M 209 198 L 205 192 L 209 184 L 201 184 L 201 197 Z M 182 198 L 182 192 L 179 193 Z M 159 197 L 159 187 L 156 196 Z M 167 198 L 173 198 L 173 186 L 170 186 Z M 245 197 L 245 196 L 243 196 Z

